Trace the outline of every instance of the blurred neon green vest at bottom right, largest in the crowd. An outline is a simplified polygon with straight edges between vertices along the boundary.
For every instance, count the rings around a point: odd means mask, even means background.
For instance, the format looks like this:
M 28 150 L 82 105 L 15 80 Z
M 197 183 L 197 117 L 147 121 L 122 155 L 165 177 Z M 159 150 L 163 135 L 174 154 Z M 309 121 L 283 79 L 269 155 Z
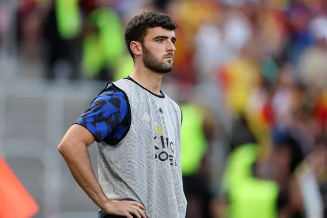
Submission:
M 245 144 L 229 156 L 224 189 L 228 192 L 230 218 L 276 218 L 278 185 L 253 177 L 252 164 L 258 158 L 257 146 Z

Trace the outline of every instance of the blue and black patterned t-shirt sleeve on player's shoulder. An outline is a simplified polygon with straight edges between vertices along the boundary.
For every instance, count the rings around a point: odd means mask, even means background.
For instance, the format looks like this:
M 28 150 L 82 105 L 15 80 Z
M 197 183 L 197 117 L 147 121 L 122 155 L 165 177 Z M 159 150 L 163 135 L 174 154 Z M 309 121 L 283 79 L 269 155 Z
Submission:
M 122 124 L 127 115 L 126 96 L 111 87 L 92 102 L 76 124 L 87 128 L 96 137 L 96 141 L 101 142 Z

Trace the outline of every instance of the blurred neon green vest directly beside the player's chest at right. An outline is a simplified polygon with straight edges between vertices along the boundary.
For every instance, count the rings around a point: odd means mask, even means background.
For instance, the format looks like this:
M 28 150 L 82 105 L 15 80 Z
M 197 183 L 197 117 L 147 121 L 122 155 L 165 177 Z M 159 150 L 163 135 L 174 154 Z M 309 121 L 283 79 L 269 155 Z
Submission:
M 183 176 L 194 175 L 201 166 L 207 145 L 203 133 L 203 114 L 200 107 L 180 105 L 183 121 L 181 127 L 181 169 Z

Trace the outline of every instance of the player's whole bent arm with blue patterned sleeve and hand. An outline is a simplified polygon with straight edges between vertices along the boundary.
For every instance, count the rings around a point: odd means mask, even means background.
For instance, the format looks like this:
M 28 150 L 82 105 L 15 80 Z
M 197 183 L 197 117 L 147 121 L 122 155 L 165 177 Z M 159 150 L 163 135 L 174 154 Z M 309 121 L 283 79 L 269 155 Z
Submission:
M 76 182 L 103 211 L 128 218 L 132 218 L 131 214 L 138 218 L 146 218 L 142 211 L 145 207 L 141 203 L 114 201 L 106 197 L 88 156 L 87 147 L 94 141 L 103 141 L 128 115 L 128 104 L 124 94 L 110 87 L 92 102 L 76 124 L 67 131 L 58 150 Z M 120 100 L 120 104 L 117 103 L 117 99 Z

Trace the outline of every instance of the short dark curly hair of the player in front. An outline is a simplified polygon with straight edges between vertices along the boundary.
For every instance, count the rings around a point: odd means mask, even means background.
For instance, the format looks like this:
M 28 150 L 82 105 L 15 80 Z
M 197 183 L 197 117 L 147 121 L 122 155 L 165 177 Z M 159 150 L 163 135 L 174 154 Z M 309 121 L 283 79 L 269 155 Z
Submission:
M 125 29 L 125 44 L 127 50 L 134 60 L 134 54 L 130 49 L 132 41 L 144 42 L 144 37 L 147 34 L 147 29 L 161 27 L 167 30 L 175 30 L 177 24 L 172 18 L 164 13 L 159 12 L 143 12 L 132 18 Z

